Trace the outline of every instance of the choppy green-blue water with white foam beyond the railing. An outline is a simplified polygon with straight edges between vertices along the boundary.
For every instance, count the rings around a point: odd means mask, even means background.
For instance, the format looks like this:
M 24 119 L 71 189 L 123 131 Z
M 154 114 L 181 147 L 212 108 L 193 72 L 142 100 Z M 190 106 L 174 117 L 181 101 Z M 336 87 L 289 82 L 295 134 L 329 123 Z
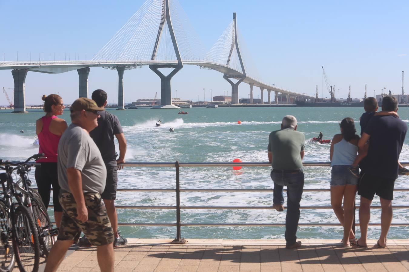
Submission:
M 344 117 L 356 121 L 362 108 L 191 108 L 188 115 L 178 115 L 178 110 L 142 109 L 111 111 L 117 115 L 128 141 L 126 160 L 130 161 L 182 161 L 211 162 L 267 161 L 268 135 L 280 128 L 284 115 L 298 119 L 298 130 L 306 139 L 316 137 L 320 131 L 324 139 L 339 133 L 338 123 Z M 409 108 L 400 108 L 400 117 L 409 122 Z M 11 114 L 0 111 L 0 157 L 24 159 L 36 153 L 35 120 L 40 111 L 28 114 Z M 63 118 L 69 119 L 68 113 Z M 155 126 L 161 119 L 163 125 Z M 241 124 L 237 124 L 240 120 Z M 169 133 L 169 128 L 174 133 Z M 25 133 L 19 133 L 24 130 Z M 358 133 L 360 131 L 357 124 Z M 405 141 L 400 161 L 409 161 L 409 142 Z M 329 161 L 329 144 L 306 143 L 304 161 Z M 34 171 L 30 173 L 34 180 Z M 119 171 L 118 188 L 175 188 L 174 168 L 126 168 Z M 181 188 L 272 188 L 270 168 L 182 168 Z M 329 167 L 305 168 L 304 188 L 329 188 Z M 409 178 L 400 176 L 395 188 L 409 188 Z M 329 192 L 304 192 L 301 206 L 330 206 Z M 119 192 L 118 205 L 175 206 L 172 192 Z M 183 192 L 183 206 L 270 206 L 272 193 L 265 192 Z M 374 205 L 379 205 L 375 197 Z M 408 192 L 396 192 L 394 205 L 408 205 Z M 357 201 L 359 205 L 359 199 Z M 52 212 L 51 212 L 52 213 Z M 118 210 L 120 222 L 174 223 L 174 210 Z M 285 212 L 275 210 L 182 210 L 185 223 L 284 223 Z M 394 210 L 393 223 L 407 223 L 409 210 Z M 300 223 L 338 222 L 332 210 L 301 210 Z M 371 222 L 380 222 L 380 210 L 372 210 Z M 175 228 L 121 227 L 126 237 L 175 237 Z M 358 228 L 359 230 L 359 228 Z M 380 228 L 369 231 L 376 238 Z M 330 239 L 342 237 L 340 227 L 300 228 L 300 238 Z M 281 227 L 183 227 L 187 238 L 271 239 L 283 238 Z M 394 227 L 389 232 L 394 239 L 408 239 L 409 228 Z

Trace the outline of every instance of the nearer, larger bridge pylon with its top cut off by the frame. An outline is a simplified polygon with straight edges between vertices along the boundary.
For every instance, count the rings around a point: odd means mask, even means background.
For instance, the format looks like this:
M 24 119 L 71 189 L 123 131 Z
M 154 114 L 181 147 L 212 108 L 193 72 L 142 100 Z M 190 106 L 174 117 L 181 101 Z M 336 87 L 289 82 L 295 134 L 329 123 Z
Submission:
M 162 37 L 163 27 L 166 22 L 169 29 L 169 34 L 171 35 L 171 40 L 173 44 L 173 49 L 175 50 L 176 59 L 178 60 L 178 64 L 176 65 L 149 65 L 149 68 L 155 72 L 160 77 L 161 80 L 161 99 L 160 99 L 160 106 L 154 108 L 178 108 L 176 106 L 172 106 L 172 97 L 171 97 L 171 79 L 172 77 L 183 68 L 182 57 L 180 57 L 178 42 L 175 38 L 175 32 L 173 31 L 172 20 L 171 20 L 171 13 L 169 11 L 169 1 L 170 0 L 163 0 L 162 1 L 162 16 L 159 24 L 159 29 L 156 35 L 155 46 L 153 47 L 152 57 L 151 60 L 155 60 L 157 55 L 157 49 L 159 48 L 160 39 Z M 161 73 L 158 68 L 174 68 L 169 75 L 164 75 Z

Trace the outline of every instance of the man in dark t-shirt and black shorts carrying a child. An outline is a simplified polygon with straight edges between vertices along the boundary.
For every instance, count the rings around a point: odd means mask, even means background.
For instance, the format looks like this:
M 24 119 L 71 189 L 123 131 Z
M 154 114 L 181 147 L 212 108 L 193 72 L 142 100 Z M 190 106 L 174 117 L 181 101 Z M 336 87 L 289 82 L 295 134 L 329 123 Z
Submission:
M 398 111 L 398 101 L 395 97 L 383 98 L 382 112 L 385 111 Z M 373 116 L 358 142 L 358 147 L 363 148 L 371 139 L 365 158 L 365 171 L 362 172 L 358 185 L 358 195 L 361 196 L 359 210 L 361 237 L 353 244 L 357 247 L 367 248 L 370 206 L 375 194 L 380 197 L 382 206 L 381 235 L 377 245 L 380 248 L 387 246 L 387 234 L 392 221 L 393 187 L 398 177 L 398 159 L 406 132 L 406 123 L 395 115 Z

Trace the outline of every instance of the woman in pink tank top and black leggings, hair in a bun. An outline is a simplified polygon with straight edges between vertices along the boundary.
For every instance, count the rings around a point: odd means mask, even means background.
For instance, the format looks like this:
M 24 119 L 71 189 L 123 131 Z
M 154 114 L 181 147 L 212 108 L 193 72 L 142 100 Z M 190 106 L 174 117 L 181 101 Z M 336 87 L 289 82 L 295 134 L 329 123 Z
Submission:
M 63 209 L 58 201 L 60 186 L 58 185 L 57 150 L 61 135 L 67 128 L 67 122 L 58 118 L 64 111 L 63 99 L 59 95 L 43 95 L 45 116 L 36 121 L 36 133 L 40 148 L 38 153 L 44 153 L 46 159 L 38 159 L 41 164 L 36 167 L 36 183 L 38 193 L 46 208 L 50 201 L 51 186 L 53 188 L 54 217 L 57 227 L 60 226 Z

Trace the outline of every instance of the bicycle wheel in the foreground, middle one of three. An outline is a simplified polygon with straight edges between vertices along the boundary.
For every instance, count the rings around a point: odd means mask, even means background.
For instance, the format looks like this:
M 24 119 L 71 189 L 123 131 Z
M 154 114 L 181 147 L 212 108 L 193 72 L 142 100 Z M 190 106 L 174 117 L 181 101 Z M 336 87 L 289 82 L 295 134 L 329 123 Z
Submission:
M 21 272 L 37 272 L 40 263 L 40 243 L 34 219 L 25 206 L 14 213 L 14 253 Z

